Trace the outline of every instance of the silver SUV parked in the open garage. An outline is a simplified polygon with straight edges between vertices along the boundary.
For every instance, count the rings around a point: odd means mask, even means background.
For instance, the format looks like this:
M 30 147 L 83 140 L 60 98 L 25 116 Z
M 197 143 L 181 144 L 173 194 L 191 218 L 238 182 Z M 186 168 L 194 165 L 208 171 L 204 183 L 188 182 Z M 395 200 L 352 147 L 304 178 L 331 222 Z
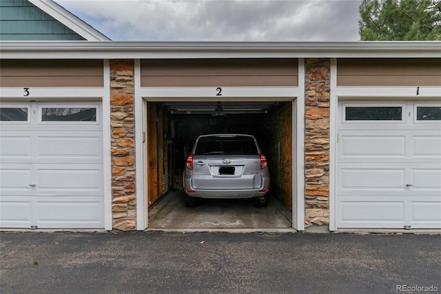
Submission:
M 203 135 L 187 157 L 183 176 L 185 205 L 197 198 L 254 198 L 266 206 L 269 171 L 265 155 L 251 135 Z

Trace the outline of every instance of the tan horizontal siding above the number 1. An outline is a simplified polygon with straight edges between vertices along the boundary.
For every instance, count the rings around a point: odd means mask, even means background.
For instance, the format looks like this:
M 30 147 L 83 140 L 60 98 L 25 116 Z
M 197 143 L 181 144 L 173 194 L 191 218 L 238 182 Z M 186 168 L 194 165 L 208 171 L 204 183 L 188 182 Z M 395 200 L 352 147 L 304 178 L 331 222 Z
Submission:
M 441 86 L 441 59 L 338 59 L 337 86 Z

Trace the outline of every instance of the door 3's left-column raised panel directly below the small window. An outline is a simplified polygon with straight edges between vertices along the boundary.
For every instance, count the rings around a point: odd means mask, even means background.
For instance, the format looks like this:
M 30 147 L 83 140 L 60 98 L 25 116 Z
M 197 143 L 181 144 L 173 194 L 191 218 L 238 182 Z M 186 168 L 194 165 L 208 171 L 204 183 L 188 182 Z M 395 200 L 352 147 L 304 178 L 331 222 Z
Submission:
M 30 159 L 31 141 L 30 135 L 14 136 L 1 130 L 0 159 Z

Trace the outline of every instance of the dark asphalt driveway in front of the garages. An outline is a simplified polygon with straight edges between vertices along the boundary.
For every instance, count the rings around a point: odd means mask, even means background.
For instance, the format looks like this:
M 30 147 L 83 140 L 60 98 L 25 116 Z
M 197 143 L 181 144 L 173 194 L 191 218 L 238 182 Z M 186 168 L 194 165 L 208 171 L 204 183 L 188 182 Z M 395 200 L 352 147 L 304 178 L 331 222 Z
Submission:
M 1 293 L 441 292 L 440 235 L 3 232 L 0 250 Z

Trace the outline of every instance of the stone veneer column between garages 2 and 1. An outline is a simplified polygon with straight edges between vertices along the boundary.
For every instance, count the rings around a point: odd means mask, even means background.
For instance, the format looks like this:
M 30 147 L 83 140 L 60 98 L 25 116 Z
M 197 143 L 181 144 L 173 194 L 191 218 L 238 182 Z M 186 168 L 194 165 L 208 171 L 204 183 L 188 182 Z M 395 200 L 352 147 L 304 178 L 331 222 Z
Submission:
M 329 224 L 329 59 L 305 60 L 305 224 Z

